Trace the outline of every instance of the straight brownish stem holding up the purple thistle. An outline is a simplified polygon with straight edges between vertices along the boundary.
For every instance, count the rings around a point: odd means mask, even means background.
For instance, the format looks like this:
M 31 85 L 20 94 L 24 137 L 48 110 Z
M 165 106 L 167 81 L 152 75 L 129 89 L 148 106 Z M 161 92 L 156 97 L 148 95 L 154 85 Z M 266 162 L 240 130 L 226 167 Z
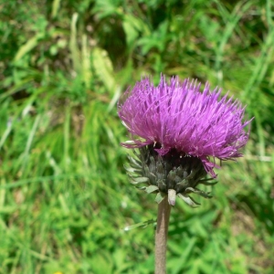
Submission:
M 155 274 L 166 273 L 166 240 L 171 205 L 167 195 L 158 205 L 157 227 L 155 233 Z

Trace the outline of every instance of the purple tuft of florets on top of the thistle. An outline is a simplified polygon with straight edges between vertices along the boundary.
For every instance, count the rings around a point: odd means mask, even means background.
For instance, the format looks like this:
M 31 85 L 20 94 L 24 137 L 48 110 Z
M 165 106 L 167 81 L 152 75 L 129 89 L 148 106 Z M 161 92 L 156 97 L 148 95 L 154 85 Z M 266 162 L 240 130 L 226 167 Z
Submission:
M 238 100 L 220 96 L 220 90 L 205 89 L 196 81 L 164 76 L 154 87 L 149 78 L 127 90 L 118 103 L 118 114 L 131 134 L 127 148 L 154 144 L 164 156 L 171 151 L 199 158 L 205 171 L 216 177 L 215 159 L 234 160 L 248 142 L 250 123 L 243 121 L 245 108 Z

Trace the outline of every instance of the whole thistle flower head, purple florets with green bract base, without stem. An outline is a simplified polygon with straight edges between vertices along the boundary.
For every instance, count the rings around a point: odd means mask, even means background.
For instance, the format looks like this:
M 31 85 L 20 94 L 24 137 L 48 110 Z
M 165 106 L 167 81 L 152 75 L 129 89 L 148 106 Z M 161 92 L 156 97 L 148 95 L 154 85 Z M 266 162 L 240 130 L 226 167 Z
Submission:
M 173 77 L 168 83 L 161 76 L 157 87 L 149 78 L 137 82 L 118 102 L 118 114 L 131 140 L 123 142 L 134 150 L 127 171 L 132 184 L 148 193 L 157 192 L 160 203 L 168 195 L 188 205 L 197 205 L 190 193 L 211 197 L 196 188 L 211 183 L 206 174 L 216 178 L 216 159 L 235 160 L 239 149 L 248 142 L 244 128 L 245 108 L 238 100 L 220 97 L 220 90 L 205 89 L 196 81 Z

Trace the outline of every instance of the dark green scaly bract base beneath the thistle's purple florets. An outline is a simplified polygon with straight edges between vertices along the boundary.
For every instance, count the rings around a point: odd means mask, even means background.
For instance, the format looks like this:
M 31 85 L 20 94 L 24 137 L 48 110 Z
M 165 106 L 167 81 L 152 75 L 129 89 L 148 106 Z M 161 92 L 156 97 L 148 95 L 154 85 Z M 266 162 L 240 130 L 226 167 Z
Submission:
M 146 193 L 157 194 L 155 201 L 160 203 L 168 195 L 170 205 L 175 205 L 176 196 L 187 205 L 199 205 L 190 194 L 211 198 L 209 193 L 199 190 L 198 184 L 213 185 L 212 179 L 205 179 L 204 164 L 198 157 L 192 157 L 176 150 L 160 155 L 150 144 L 134 150 L 134 157 L 129 156 L 130 165 L 126 170 L 131 183 Z

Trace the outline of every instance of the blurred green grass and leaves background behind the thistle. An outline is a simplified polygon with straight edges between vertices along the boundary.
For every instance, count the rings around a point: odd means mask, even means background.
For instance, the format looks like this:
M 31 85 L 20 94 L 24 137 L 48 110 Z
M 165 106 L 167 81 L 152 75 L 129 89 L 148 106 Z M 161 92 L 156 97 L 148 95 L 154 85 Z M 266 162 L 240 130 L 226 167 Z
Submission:
M 0 0 L 0 273 L 153 273 L 153 195 L 123 164 L 122 91 L 160 73 L 253 116 L 211 200 L 177 201 L 168 273 L 273 273 L 273 1 Z

